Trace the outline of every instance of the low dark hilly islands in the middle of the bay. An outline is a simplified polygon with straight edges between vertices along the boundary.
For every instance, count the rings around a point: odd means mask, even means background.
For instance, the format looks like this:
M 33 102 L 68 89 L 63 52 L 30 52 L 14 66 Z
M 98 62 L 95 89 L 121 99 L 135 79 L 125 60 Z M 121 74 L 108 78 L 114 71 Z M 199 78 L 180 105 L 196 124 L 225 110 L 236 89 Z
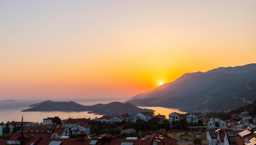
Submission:
M 139 112 L 152 112 L 151 109 L 142 109 L 130 103 L 111 102 L 109 104 L 96 104 L 92 106 L 83 106 L 73 101 L 69 102 L 54 102 L 44 101 L 30 105 L 22 111 L 91 111 L 92 113 L 102 115 L 121 115 L 124 113 L 139 113 Z

